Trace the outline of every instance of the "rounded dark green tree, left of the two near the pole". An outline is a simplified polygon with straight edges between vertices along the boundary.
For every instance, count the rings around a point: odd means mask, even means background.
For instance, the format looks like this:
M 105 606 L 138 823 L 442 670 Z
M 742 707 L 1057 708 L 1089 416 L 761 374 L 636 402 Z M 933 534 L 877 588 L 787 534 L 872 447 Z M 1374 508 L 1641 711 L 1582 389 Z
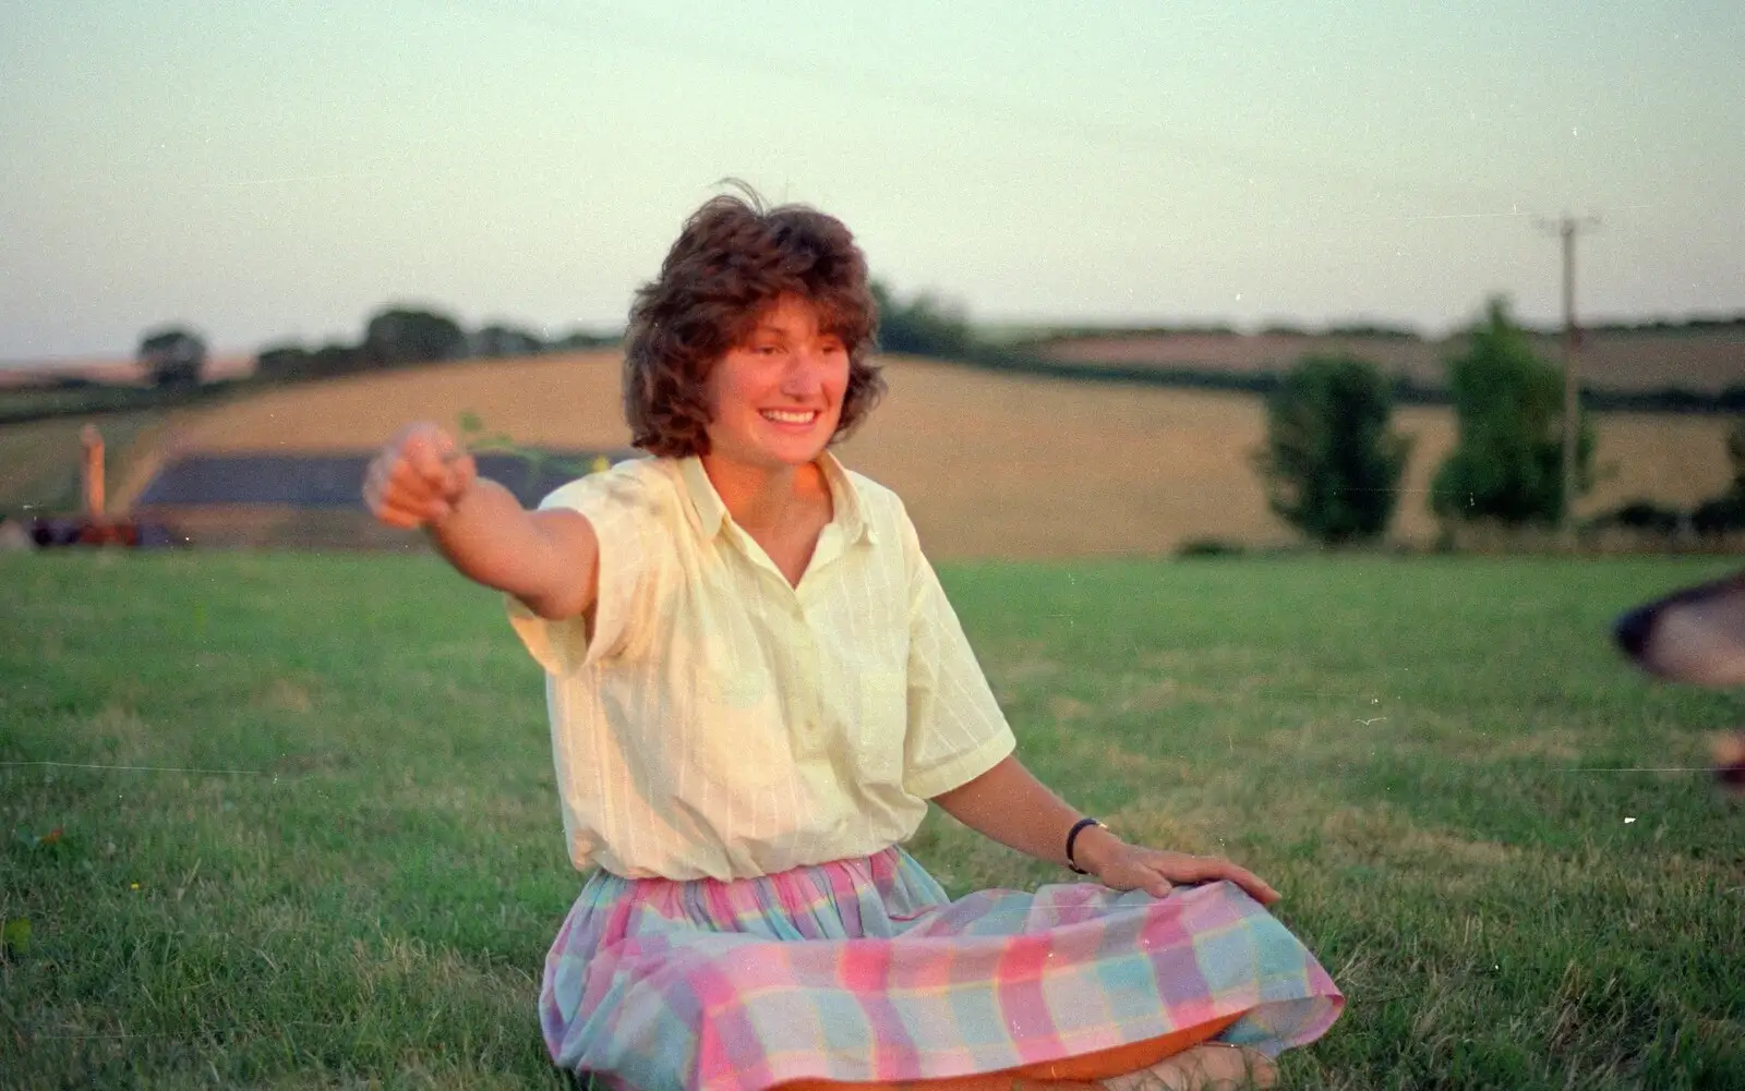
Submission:
M 1379 539 L 1398 504 L 1412 441 L 1389 430 L 1393 394 L 1375 364 L 1310 356 L 1267 399 L 1255 455 L 1272 511 L 1310 539 Z

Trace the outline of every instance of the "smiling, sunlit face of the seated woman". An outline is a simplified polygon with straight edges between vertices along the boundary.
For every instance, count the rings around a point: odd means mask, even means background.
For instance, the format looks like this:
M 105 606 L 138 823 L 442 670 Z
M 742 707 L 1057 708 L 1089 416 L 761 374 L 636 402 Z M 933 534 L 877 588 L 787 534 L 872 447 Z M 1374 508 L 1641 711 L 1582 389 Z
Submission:
M 708 373 L 708 457 L 757 469 L 806 465 L 836 434 L 848 347 L 811 303 L 782 296 Z

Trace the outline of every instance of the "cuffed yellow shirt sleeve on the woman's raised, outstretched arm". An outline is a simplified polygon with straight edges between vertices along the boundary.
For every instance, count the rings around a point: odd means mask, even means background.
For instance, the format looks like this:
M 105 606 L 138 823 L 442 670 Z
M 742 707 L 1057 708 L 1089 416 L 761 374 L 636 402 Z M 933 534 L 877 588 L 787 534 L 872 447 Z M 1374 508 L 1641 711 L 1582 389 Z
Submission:
M 600 544 L 600 580 L 593 608 L 579 617 L 546 620 L 515 596 L 504 596 L 510 626 L 550 674 L 569 674 L 619 655 L 632 643 L 647 600 L 660 535 L 656 486 L 639 462 L 619 464 L 564 485 L 539 511 L 583 514 Z

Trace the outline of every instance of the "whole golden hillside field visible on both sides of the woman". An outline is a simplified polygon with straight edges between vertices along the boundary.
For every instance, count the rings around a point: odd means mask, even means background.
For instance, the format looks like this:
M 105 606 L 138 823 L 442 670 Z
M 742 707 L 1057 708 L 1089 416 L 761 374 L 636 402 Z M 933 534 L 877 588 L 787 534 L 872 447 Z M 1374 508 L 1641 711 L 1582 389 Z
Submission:
M 161 448 L 174 451 L 363 451 L 408 420 L 450 427 L 464 411 L 492 432 L 551 448 L 623 446 L 619 357 L 585 352 L 480 361 L 284 387 L 194 411 Z M 1295 540 L 1267 511 L 1249 455 L 1262 443 L 1258 399 L 1241 394 L 1073 383 L 895 357 L 890 396 L 841 448 L 890 485 L 941 558 L 1159 554 L 1190 539 L 1249 546 Z M 1600 415 L 1598 462 L 1611 476 L 1583 511 L 1649 497 L 1689 505 L 1726 485 L 1717 417 Z M 1452 417 L 1410 408 L 1417 437 L 1394 537 L 1427 542 L 1434 467 Z M 136 497 L 140 460 L 112 491 Z

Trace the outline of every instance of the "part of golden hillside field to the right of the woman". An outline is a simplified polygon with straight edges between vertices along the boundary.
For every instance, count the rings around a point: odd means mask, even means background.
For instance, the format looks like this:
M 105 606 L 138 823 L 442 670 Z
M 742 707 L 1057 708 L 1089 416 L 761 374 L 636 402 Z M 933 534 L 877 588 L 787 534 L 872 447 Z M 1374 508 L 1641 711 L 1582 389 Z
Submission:
M 892 396 L 845 458 L 900 491 L 941 556 L 1094 556 L 1183 540 L 1297 540 L 1267 509 L 1249 457 L 1265 439 L 1260 399 L 988 375 L 942 364 L 890 368 Z M 1441 408 L 1396 413 L 1415 437 L 1394 537 L 1434 539 L 1429 481 L 1454 446 Z M 1689 505 L 1726 486 L 1729 420 L 1598 417 L 1612 476 L 1581 511 L 1653 497 Z

